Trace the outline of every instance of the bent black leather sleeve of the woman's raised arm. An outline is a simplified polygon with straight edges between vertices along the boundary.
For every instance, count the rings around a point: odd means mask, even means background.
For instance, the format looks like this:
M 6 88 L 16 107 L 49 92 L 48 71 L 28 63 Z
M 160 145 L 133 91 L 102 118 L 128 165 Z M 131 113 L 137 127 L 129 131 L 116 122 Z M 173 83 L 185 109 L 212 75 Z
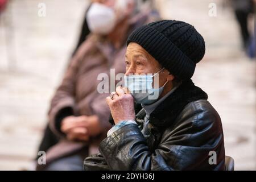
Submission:
M 112 170 L 221 169 L 225 154 L 219 150 L 223 135 L 218 115 L 197 110 L 181 118 L 173 131 L 163 133 L 154 151 L 138 126 L 130 124 L 102 140 L 100 152 Z M 217 151 L 217 165 L 209 164 L 210 151 Z

